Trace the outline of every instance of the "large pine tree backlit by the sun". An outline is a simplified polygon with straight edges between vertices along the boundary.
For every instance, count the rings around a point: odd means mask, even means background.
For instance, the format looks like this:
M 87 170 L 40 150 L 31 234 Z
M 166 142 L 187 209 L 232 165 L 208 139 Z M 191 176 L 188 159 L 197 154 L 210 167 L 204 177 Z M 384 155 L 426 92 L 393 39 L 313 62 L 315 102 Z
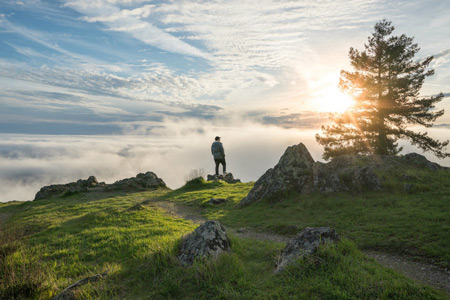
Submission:
M 426 132 L 408 128 L 415 124 L 431 127 L 444 114 L 444 110 L 434 110 L 442 93 L 419 97 L 425 78 L 434 74 L 429 68 L 433 57 L 414 60 L 420 48 L 404 34 L 392 36 L 390 21 L 382 20 L 374 28 L 363 51 L 350 48 L 354 72 L 341 71 L 339 87 L 355 99 L 355 105 L 343 114 L 333 114 L 332 124 L 322 126 L 322 135 L 316 135 L 325 148 L 324 158 L 394 155 L 402 150 L 399 139 L 408 139 L 440 158 L 450 156 L 445 152 L 448 141 L 439 142 Z

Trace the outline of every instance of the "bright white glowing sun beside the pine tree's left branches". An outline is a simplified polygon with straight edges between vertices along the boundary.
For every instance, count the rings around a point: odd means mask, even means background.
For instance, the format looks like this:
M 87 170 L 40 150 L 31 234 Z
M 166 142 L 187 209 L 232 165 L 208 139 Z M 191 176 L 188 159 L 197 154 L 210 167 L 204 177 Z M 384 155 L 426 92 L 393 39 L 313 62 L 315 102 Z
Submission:
M 354 104 L 354 100 L 343 94 L 337 87 L 323 89 L 316 95 L 317 110 L 320 112 L 342 113 Z

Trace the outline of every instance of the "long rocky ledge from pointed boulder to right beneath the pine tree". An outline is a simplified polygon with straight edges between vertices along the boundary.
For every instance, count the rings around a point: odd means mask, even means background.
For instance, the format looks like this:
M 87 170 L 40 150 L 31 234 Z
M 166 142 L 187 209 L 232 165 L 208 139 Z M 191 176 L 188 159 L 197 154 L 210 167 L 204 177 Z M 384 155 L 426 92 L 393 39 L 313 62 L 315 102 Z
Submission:
M 302 143 L 288 147 L 278 164 L 267 170 L 239 206 L 274 197 L 282 192 L 335 193 L 341 191 L 379 190 L 382 180 L 377 170 L 393 170 L 402 166 L 416 166 L 429 170 L 444 169 L 423 155 L 404 156 L 343 155 L 328 163 L 315 162 Z

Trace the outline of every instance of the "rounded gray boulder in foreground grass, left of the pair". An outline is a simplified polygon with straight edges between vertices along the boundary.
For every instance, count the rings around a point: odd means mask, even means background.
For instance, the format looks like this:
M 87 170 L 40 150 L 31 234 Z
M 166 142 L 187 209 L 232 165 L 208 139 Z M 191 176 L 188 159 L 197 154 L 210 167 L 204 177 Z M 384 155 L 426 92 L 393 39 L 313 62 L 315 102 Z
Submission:
M 215 259 L 224 251 L 231 251 L 227 233 L 219 221 L 209 220 L 183 238 L 178 260 L 189 266 L 196 259 Z

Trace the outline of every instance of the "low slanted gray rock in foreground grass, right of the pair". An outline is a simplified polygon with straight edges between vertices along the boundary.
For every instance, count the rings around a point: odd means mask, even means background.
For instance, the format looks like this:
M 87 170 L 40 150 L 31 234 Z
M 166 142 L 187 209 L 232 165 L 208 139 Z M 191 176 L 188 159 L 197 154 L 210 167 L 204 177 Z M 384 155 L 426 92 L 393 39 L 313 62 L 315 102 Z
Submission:
M 281 251 L 275 272 L 282 271 L 300 257 L 313 254 L 322 244 L 337 243 L 338 241 L 339 236 L 330 227 L 306 227 Z

